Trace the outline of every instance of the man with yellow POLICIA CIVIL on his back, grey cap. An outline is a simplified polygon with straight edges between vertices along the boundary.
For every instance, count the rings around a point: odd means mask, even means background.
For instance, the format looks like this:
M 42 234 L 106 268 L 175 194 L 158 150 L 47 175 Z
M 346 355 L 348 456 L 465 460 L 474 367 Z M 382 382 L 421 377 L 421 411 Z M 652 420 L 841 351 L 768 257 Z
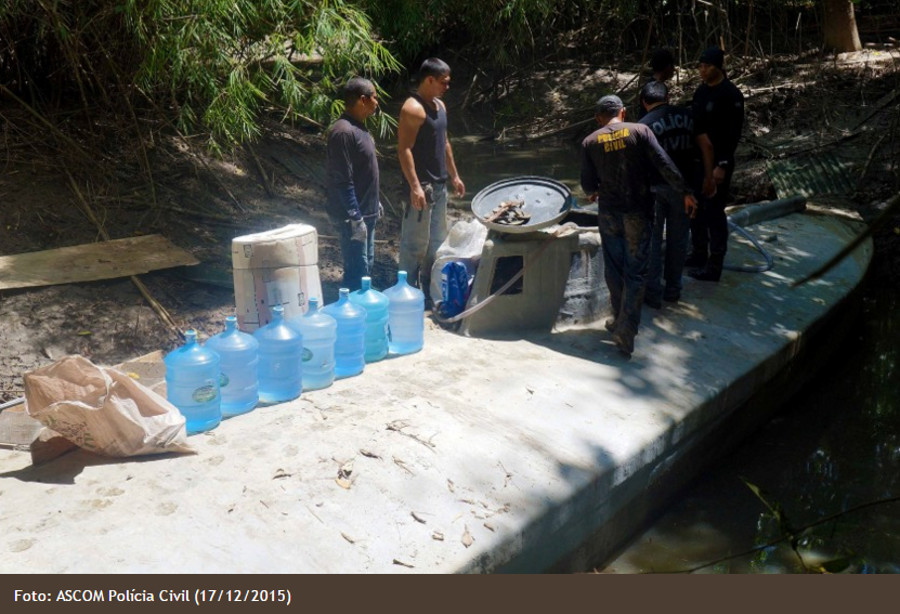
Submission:
M 600 129 L 581 144 L 581 187 L 598 204 L 604 278 L 613 315 L 606 328 L 619 350 L 630 356 L 644 302 L 655 172 L 684 194 L 688 215 L 693 215 L 697 201 L 653 131 L 624 121 L 625 107 L 618 96 L 601 98 L 596 118 Z

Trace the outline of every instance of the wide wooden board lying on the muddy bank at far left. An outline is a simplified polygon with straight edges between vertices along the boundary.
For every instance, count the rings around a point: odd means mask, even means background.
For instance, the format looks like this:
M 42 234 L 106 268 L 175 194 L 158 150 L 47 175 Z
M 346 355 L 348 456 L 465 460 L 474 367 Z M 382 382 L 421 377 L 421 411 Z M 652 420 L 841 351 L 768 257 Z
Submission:
M 0 289 L 130 277 L 199 264 L 162 235 L 129 237 L 42 252 L 0 256 Z

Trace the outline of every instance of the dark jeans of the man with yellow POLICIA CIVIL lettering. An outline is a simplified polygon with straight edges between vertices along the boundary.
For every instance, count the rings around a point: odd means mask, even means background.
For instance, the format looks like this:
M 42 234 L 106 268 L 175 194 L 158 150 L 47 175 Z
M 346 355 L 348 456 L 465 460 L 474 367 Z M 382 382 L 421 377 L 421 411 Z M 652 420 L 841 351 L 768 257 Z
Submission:
M 633 338 L 641 323 L 653 221 L 640 213 L 622 213 L 601 205 L 597 225 L 603 247 L 603 276 L 615 320 L 613 330 Z

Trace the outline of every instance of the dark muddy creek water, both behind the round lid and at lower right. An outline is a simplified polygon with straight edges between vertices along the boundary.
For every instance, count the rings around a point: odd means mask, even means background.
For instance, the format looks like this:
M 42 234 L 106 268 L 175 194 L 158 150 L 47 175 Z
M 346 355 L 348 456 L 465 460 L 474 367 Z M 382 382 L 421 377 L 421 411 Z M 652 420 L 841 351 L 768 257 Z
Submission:
M 562 181 L 584 202 L 571 142 L 502 146 L 473 138 L 454 142 L 454 151 L 468 189 L 462 206 L 493 181 L 519 175 Z M 900 497 L 898 308 L 900 289 L 868 284 L 859 328 L 834 348 L 830 365 L 601 569 L 900 572 L 900 503 L 866 507 Z M 781 523 L 747 483 L 782 510 Z M 779 541 L 785 530 L 799 536 L 796 550 Z

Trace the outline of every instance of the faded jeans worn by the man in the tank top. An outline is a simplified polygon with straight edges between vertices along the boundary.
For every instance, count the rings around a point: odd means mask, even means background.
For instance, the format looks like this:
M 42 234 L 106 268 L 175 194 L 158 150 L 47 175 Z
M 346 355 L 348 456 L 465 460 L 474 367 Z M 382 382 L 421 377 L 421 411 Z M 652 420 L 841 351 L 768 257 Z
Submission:
M 421 285 L 421 280 L 431 278 L 434 254 L 448 233 L 447 184 L 433 183 L 431 186 L 433 200 L 424 210 L 416 211 L 409 202 L 404 205 L 400 229 L 400 270 L 406 271 L 410 284 L 425 291 L 427 286 Z

